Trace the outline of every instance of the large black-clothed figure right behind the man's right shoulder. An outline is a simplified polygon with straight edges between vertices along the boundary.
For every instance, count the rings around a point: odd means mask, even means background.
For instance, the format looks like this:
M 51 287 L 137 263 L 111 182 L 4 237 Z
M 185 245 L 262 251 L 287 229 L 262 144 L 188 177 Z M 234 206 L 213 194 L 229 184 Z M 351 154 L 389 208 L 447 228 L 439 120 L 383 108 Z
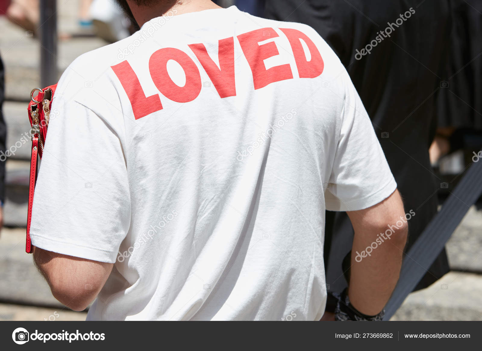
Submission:
M 371 117 L 398 183 L 414 244 L 437 212 L 441 180 L 428 148 L 436 129 L 435 104 L 450 35 L 444 0 L 267 0 L 267 18 L 312 26 L 337 53 Z M 394 224 L 394 223 L 387 223 Z M 330 290 L 347 286 L 353 229 L 345 213 L 326 213 L 325 267 Z M 416 289 L 449 270 L 445 250 Z M 342 277 L 345 275 L 346 279 Z M 326 311 L 333 312 L 330 298 Z

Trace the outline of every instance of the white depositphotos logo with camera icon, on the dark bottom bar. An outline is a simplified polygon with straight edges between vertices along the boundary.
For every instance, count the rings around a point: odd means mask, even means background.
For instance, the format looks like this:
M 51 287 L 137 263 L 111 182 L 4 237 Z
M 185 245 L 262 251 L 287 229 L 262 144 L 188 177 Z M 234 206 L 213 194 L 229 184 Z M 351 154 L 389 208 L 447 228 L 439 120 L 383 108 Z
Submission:
M 37 329 L 35 329 L 35 333 L 29 333 L 25 328 L 16 328 L 13 330 L 12 339 L 15 344 L 25 344 L 28 341 L 43 341 L 44 343 L 49 340 L 54 341 L 68 341 L 71 343 L 72 341 L 99 341 L 105 340 L 106 334 L 102 333 L 94 333 L 91 331 L 90 333 L 80 333 L 77 329 L 75 333 L 69 333 L 66 330 L 62 330 L 62 333 L 39 333 Z

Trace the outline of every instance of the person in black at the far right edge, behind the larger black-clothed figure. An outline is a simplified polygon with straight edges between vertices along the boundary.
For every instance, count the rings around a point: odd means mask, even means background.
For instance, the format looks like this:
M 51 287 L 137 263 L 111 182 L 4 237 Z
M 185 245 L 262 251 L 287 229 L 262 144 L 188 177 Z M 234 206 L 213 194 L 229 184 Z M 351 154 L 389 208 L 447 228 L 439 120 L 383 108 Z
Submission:
M 453 30 L 444 89 L 438 98 L 435 162 L 465 149 L 471 158 L 482 147 L 482 2 L 452 0 Z

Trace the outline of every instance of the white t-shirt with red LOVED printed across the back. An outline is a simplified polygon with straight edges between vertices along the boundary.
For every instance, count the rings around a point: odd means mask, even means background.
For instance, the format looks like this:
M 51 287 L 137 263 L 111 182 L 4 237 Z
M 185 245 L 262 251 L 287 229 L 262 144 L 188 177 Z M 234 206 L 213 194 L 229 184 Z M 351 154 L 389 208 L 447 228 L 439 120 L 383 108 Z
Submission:
M 32 243 L 114 263 L 88 320 L 319 319 L 325 209 L 396 189 L 326 42 L 235 6 L 81 55 L 52 110 Z

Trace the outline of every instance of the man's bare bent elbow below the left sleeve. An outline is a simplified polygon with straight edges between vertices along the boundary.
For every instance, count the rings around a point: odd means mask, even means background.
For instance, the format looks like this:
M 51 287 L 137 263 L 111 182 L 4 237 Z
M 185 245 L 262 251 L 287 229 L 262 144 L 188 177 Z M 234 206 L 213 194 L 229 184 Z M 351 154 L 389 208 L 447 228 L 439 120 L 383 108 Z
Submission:
M 34 247 L 33 259 L 54 298 L 74 311 L 83 311 L 97 297 L 113 263 L 98 262 Z

